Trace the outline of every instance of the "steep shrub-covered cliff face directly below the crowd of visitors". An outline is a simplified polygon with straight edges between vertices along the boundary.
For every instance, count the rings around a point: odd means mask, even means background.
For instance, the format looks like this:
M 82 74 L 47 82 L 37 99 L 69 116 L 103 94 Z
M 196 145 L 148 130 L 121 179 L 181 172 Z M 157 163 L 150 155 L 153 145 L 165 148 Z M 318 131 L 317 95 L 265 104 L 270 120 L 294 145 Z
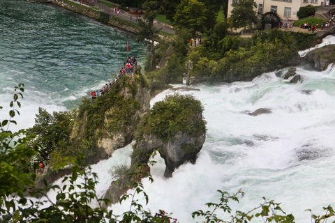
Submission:
M 140 72 L 124 75 L 108 93 L 80 105 L 70 139 L 84 148 L 91 162 L 112 155 L 117 148 L 131 143 L 135 128 L 150 107 L 150 90 Z

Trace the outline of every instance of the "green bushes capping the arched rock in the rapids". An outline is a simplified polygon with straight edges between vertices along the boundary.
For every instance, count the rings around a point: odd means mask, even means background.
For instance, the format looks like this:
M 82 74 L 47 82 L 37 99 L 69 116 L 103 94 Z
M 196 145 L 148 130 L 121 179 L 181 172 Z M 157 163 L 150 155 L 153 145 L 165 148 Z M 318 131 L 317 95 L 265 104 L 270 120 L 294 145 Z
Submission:
M 137 138 L 143 134 L 154 134 L 168 141 L 177 132 L 198 137 L 206 132 L 202 111 L 201 102 L 192 95 L 167 95 L 164 100 L 156 102 L 149 115 L 142 120 Z

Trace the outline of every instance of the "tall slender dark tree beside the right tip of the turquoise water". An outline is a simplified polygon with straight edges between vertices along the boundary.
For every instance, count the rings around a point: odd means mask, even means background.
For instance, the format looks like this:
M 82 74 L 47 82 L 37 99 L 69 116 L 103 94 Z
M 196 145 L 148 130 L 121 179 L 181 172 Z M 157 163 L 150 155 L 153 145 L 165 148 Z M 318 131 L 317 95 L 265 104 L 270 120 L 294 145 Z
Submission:
M 140 31 L 137 33 L 137 41 L 149 40 L 149 70 L 154 70 L 156 68 L 154 40 L 158 38 L 158 30 L 154 27 L 154 19 L 157 17 L 157 1 L 146 1 L 142 7 L 145 14 L 143 20 L 138 20 Z

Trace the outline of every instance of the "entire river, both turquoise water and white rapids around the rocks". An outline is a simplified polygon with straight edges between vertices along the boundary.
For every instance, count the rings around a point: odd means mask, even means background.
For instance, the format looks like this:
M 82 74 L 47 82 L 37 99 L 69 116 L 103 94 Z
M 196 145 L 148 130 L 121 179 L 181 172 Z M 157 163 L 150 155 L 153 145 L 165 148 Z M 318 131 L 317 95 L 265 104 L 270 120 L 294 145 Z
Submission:
M 107 82 L 126 59 L 127 40 L 132 55 L 145 56 L 145 46 L 133 34 L 49 4 L 1 0 L 0 19 L 0 115 L 8 114 L 13 86 L 23 82 L 20 128 L 34 125 L 39 106 L 48 112 L 73 109 Z M 182 165 L 172 178 L 163 178 L 165 165 L 156 157 L 154 183 L 143 180 L 149 195 L 145 208 L 195 222 L 191 213 L 218 202 L 216 190 L 239 189 L 245 197 L 232 208 L 248 211 L 266 197 L 301 223 L 311 219 L 306 209 L 320 215 L 323 206 L 334 206 L 335 69 L 297 67 L 297 74 L 304 78 L 300 84 L 269 72 L 252 82 L 195 86 L 200 91 L 191 93 L 204 105 L 207 139 L 197 162 Z M 157 95 L 151 105 L 169 93 Z M 246 114 L 259 108 L 272 113 Z M 108 169 L 129 163 L 130 154 L 126 146 L 93 166 L 99 196 L 112 180 Z M 121 214 L 129 206 L 110 208 Z

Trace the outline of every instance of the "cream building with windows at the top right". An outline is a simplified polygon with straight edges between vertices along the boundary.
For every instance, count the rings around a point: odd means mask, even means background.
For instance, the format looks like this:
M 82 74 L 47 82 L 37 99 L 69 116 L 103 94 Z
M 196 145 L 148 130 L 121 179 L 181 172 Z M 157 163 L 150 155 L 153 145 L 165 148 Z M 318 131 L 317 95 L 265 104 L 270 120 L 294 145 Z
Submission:
M 228 17 L 232 11 L 232 3 L 237 3 L 238 0 L 228 1 Z M 303 6 L 320 6 L 322 5 L 335 5 L 335 0 L 255 0 L 257 3 L 258 13 L 273 12 L 277 13 L 281 20 L 298 20 L 297 11 Z

